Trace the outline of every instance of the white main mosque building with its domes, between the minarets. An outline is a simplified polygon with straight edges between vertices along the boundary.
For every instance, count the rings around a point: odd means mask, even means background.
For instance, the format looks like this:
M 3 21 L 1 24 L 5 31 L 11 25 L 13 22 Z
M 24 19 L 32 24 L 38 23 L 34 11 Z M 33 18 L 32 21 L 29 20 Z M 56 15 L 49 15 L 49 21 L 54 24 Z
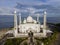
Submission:
M 40 32 L 40 24 L 37 23 L 31 16 L 28 16 L 27 19 L 24 19 L 23 23 L 19 25 L 19 31 L 21 33 Z

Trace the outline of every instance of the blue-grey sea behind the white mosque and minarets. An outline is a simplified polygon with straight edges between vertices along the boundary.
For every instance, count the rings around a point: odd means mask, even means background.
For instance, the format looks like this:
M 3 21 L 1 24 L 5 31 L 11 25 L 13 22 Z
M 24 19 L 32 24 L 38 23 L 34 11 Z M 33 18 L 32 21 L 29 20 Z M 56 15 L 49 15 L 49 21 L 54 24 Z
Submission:
M 19 22 L 19 16 L 17 16 Z M 22 21 L 27 17 L 22 16 Z M 36 19 L 36 17 L 33 17 Z M 43 17 L 39 18 L 40 23 L 43 23 Z M 47 23 L 60 23 L 60 17 L 47 17 Z M 13 15 L 0 15 L 0 28 L 11 28 L 14 26 Z

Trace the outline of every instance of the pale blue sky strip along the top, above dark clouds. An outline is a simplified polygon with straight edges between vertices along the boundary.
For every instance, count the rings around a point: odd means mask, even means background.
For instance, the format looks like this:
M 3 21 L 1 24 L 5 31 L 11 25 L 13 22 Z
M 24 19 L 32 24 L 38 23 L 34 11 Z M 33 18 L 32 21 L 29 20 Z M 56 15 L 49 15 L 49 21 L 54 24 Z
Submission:
M 26 5 L 47 4 L 47 5 L 60 6 L 60 0 L 0 0 L 0 7 L 14 7 L 17 2 Z

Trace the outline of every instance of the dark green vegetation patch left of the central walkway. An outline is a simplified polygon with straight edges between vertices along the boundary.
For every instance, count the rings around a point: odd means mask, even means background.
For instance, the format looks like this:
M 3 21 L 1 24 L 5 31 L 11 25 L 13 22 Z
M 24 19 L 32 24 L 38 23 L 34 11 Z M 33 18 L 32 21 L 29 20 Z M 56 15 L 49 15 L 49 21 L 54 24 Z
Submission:
M 19 45 L 22 41 L 26 40 L 27 38 L 14 38 L 14 39 L 7 39 L 5 45 Z

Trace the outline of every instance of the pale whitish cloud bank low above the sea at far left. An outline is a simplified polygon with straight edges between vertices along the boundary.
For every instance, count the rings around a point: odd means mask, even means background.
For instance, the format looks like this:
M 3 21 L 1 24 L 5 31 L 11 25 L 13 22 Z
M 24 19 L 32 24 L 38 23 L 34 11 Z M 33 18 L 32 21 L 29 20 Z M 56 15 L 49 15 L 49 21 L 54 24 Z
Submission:
M 19 11 L 16 8 L 0 7 L 0 15 L 13 15 L 14 10 Z

